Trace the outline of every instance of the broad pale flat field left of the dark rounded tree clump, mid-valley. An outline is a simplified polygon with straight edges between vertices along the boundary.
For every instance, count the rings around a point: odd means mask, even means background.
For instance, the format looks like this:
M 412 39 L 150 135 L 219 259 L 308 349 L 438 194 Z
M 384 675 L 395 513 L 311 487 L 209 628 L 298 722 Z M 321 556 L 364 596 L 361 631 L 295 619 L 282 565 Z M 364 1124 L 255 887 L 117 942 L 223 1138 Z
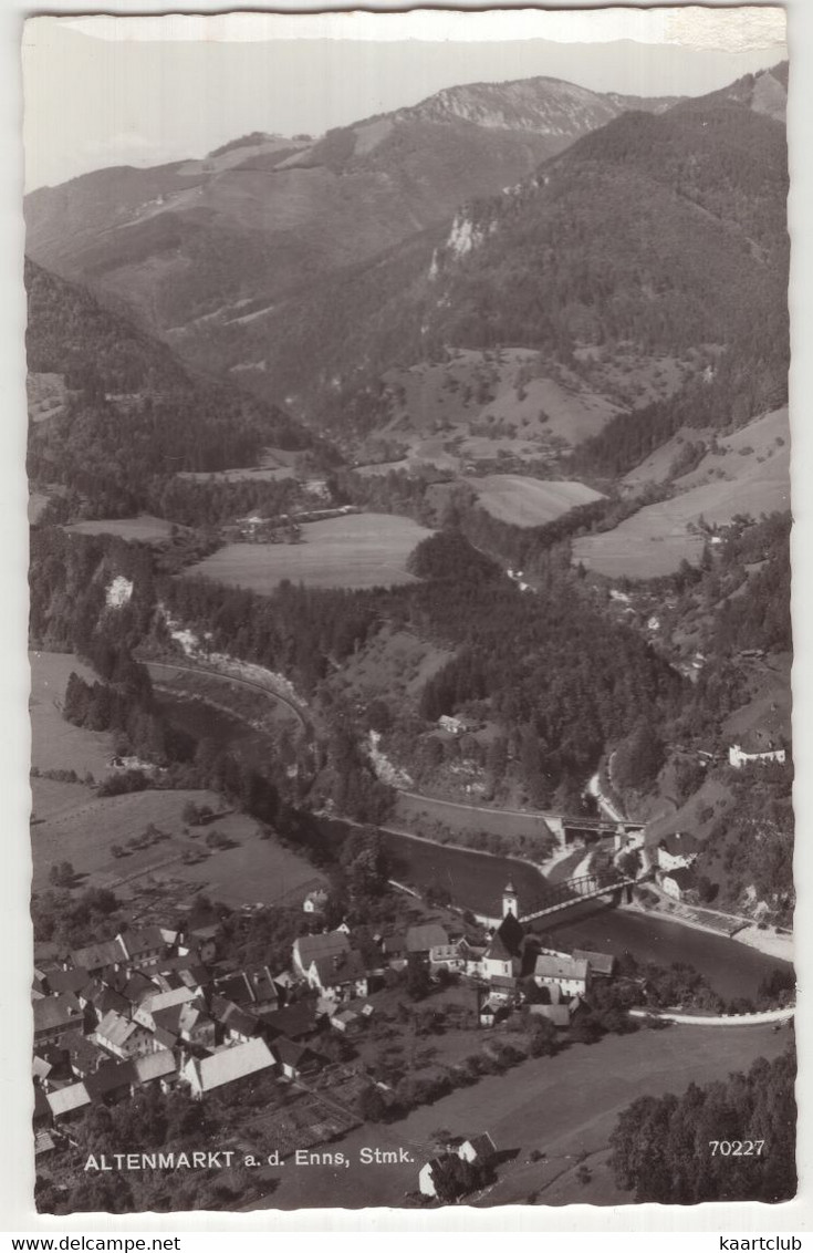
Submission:
M 309 588 L 390 586 L 413 581 L 406 560 L 427 535 L 408 517 L 347 514 L 306 523 L 301 544 L 228 544 L 187 573 L 261 593 L 281 579 Z

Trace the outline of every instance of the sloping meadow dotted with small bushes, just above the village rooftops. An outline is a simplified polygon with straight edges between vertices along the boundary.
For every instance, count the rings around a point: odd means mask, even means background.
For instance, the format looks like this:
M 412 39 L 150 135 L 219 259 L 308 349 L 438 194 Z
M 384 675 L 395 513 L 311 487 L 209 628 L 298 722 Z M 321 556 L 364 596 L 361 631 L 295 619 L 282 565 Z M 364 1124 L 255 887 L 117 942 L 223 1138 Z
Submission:
M 282 848 L 276 840 L 261 840 L 257 823 L 243 813 L 229 812 L 204 827 L 189 827 L 184 833 L 183 808 L 188 801 L 208 804 L 214 813 L 222 799 L 213 792 L 148 791 L 125 796 L 96 797 L 78 784 L 56 784 L 64 789 L 61 798 L 53 792 L 49 779 L 34 779 L 34 808 L 38 819 L 31 828 L 34 856 L 34 890 L 48 886 L 54 862 L 69 861 L 83 885 L 134 888 L 149 876 L 160 885 L 180 876 L 189 891 L 205 891 L 227 905 L 246 902 L 269 905 L 291 895 L 302 895 L 306 887 L 319 881 L 318 873 L 296 853 Z M 38 804 L 39 789 L 46 804 Z M 50 802 L 50 812 L 49 804 Z M 162 838 L 148 848 L 114 857 L 113 846 L 127 850 L 128 841 L 138 838 L 149 824 Z M 205 850 L 205 837 L 217 831 L 234 847 L 212 851 L 205 860 L 189 865 L 184 853 Z

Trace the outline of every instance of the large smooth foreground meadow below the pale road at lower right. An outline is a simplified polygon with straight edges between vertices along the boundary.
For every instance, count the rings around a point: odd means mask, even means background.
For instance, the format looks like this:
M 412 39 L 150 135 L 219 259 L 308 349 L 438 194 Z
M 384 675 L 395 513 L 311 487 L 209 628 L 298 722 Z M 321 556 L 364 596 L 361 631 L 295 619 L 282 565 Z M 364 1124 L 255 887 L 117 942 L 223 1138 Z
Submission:
M 481 1032 L 510 1040 L 502 1029 Z M 481 1079 L 432 1105 L 421 1106 L 391 1125 L 361 1126 L 336 1144 L 350 1157 L 346 1170 L 331 1167 L 272 1172 L 276 1190 L 259 1208 L 292 1209 L 313 1204 L 358 1208 L 402 1205 L 417 1190 L 421 1165 L 435 1155 L 435 1133 L 451 1135 L 489 1131 L 512 1158 L 499 1167 L 499 1182 L 484 1198 L 487 1205 L 517 1204 L 529 1197 L 539 1204 L 629 1203 L 606 1172 L 606 1146 L 618 1115 L 635 1098 L 681 1093 L 690 1083 L 707 1084 L 733 1070 L 747 1070 L 759 1056 L 774 1058 L 788 1042 L 787 1032 L 770 1027 L 670 1027 L 606 1036 L 595 1045 L 570 1045 L 556 1058 L 525 1061 L 504 1075 Z M 412 1163 L 360 1165 L 365 1146 L 411 1152 Z M 537 1149 L 545 1160 L 529 1162 Z M 579 1155 L 598 1164 L 594 1180 L 575 1179 Z

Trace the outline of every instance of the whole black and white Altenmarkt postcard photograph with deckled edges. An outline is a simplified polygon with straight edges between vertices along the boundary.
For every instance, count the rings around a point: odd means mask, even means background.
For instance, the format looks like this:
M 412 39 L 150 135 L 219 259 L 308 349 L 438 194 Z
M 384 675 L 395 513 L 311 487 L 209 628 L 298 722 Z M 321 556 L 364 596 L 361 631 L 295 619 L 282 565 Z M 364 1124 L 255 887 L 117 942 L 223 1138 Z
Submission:
M 785 13 L 524 14 L 23 28 L 40 1215 L 797 1195 Z

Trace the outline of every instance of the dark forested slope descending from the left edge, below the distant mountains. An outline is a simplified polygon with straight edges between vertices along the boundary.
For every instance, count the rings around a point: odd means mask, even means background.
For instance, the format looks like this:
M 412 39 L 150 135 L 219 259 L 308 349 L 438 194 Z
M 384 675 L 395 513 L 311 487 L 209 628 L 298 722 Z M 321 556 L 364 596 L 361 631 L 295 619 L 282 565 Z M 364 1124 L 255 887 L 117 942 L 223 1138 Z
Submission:
M 29 371 L 58 373 L 65 410 L 31 424 L 29 475 L 122 516 L 178 470 L 251 465 L 268 444 L 311 442 L 279 408 L 192 378 L 164 345 L 88 291 L 26 262 Z

